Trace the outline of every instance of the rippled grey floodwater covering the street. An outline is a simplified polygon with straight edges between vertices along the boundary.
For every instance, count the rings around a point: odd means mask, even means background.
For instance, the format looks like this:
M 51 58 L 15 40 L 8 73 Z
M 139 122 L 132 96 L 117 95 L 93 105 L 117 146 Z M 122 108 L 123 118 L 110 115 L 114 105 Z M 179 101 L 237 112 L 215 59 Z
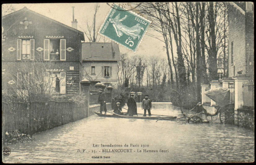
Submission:
M 180 109 L 171 103 L 153 102 L 152 105 L 152 114 L 182 117 Z M 141 108 L 138 108 L 138 112 L 142 112 Z M 254 132 L 219 123 L 191 124 L 184 119 L 156 122 L 156 120 L 103 118 L 94 115 L 37 133 L 34 137 L 35 140 L 31 143 L 4 146 L 11 149 L 11 154 L 3 156 L 3 162 L 254 161 Z M 110 144 L 112 145 L 110 147 L 101 146 Z M 149 150 L 157 152 L 147 152 Z

